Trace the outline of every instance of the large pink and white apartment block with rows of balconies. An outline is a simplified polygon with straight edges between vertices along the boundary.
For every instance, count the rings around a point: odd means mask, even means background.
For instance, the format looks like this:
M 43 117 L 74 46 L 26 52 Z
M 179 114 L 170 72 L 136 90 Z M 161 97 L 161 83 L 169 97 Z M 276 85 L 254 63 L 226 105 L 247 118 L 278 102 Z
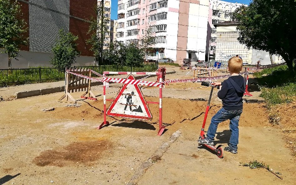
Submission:
M 155 37 L 150 59 L 205 60 L 209 0 L 119 0 L 117 41 L 138 43 L 145 30 Z

